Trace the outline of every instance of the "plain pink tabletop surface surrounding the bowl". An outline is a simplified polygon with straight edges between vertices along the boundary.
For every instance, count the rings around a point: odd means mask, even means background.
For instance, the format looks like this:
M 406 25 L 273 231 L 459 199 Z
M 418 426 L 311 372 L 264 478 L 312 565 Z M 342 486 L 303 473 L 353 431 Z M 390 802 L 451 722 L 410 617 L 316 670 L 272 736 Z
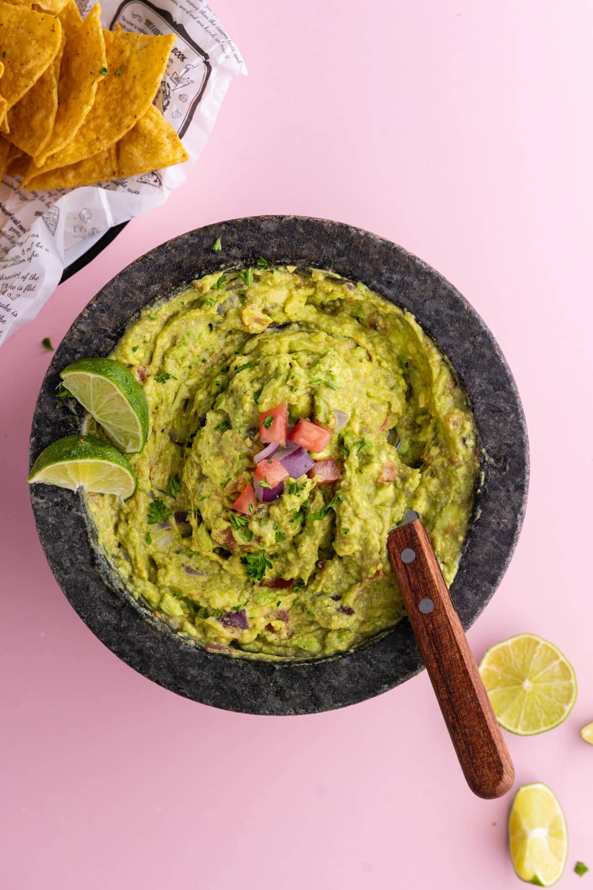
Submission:
M 50 361 L 42 338 L 57 344 L 108 279 L 164 239 L 261 213 L 355 223 L 409 248 L 469 298 L 513 368 L 532 442 L 530 503 L 512 565 L 469 641 L 479 658 L 533 631 L 573 661 L 580 695 L 566 723 L 507 739 L 517 784 L 545 781 L 564 805 L 564 881 L 580 886 L 574 862 L 593 866 L 593 750 L 578 736 L 593 719 L 593 8 L 215 7 L 250 77 L 231 85 L 202 162 L 0 350 L 0 886 L 517 886 L 511 798 L 484 802 L 465 787 L 425 674 L 318 716 L 205 708 L 105 649 L 37 541 L 25 480 Z

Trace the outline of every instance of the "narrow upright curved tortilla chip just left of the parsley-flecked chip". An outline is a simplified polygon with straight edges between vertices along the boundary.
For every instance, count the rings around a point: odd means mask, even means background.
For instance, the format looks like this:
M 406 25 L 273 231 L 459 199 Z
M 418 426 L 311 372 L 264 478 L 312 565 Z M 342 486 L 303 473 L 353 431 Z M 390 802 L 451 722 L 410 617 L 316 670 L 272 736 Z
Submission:
M 100 4 L 95 4 L 83 21 L 74 0 L 69 0 L 60 13 L 60 21 L 66 32 L 66 46 L 60 67 L 58 111 L 49 141 L 34 156 L 37 167 L 44 166 L 50 155 L 76 137 L 92 109 L 97 84 L 103 79 L 100 69 L 107 67 Z

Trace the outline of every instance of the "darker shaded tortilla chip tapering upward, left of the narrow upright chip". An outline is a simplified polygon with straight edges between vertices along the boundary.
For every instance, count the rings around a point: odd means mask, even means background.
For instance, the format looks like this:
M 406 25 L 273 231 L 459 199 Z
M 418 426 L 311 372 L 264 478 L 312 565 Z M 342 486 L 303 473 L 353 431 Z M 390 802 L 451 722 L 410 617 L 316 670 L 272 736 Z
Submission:
M 60 50 L 55 59 L 6 117 L 10 126 L 9 141 L 31 156 L 41 151 L 52 135 L 58 110 L 60 60 L 65 43 L 66 35 L 62 31 Z

